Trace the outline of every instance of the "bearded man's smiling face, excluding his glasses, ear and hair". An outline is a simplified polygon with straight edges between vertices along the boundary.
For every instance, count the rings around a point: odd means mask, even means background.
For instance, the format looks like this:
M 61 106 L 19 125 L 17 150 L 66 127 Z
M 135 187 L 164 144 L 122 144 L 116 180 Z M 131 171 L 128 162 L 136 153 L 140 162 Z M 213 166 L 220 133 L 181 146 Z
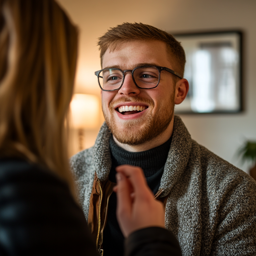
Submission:
M 103 56 L 102 68 L 132 70 L 148 64 L 175 70 L 169 59 L 164 42 L 132 41 L 122 44 L 114 52 L 108 49 Z M 127 72 L 119 90 L 102 91 L 102 110 L 106 123 L 120 143 L 142 144 L 167 129 L 174 113 L 173 76 L 162 71 L 156 88 L 140 89 L 134 84 L 132 74 Z

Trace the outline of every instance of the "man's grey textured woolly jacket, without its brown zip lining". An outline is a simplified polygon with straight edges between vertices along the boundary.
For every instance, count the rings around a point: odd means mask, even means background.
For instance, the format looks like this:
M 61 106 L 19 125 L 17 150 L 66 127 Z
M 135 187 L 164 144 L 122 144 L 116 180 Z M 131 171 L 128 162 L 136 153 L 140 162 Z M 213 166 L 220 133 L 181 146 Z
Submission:
M 108 179 L 109 137 L 104 123 L 95 145 L 71 158 L 86 218 L 94 173 Z M 192 140 L 178 116 L 160 188 L 169 195 L 165 227 L 184 256 L 256 255 L 256 182 Z

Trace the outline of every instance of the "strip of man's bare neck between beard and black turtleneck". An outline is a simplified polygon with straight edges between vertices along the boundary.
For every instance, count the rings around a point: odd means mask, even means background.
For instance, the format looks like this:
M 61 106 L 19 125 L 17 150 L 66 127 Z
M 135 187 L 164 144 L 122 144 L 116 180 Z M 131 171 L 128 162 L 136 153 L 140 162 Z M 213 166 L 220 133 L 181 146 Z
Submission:
M 167 129 L 164 132 L 156 136 L 153 140 L 146 141 L 145 143 L 140 145 L 122 144 L 118 140 L 116 140 L 114 135 L 113 135 L 113 139 L 119 147 L 129 152 L 141 152 L 141 151 L 150 150 L 151 148 L 158 147 L 169 140 L 170 136 L 172 136 L 172 133 L 173 133 L 173 123 L 174 123 L 174 118 L 169 123 Z

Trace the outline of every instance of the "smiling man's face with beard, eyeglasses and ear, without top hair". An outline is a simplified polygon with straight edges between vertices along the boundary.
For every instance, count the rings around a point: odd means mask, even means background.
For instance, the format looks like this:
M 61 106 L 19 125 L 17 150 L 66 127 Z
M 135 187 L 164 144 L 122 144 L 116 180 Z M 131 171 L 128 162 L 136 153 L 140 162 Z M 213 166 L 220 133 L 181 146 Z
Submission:
M 106 68 L 96 72 L 104 90 L 106 124 L 115 143 L 128 151 L 159 146 L 172 135 L 174 104 L 186 97 L 188 82 L 172 70 L 178 67 L 169 60 L 164 42 L 136 40 L 114 46 L 102 58 Z

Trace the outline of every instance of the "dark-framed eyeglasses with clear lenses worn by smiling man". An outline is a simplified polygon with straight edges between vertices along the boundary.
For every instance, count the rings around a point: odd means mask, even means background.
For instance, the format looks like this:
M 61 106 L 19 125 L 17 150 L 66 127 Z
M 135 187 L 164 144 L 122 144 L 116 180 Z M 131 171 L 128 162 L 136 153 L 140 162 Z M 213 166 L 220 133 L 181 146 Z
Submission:
M 175 76 L 182 78 L 182 76 L 172 69 L 158 66 L 143 66 L 137 67 L 133 70 L 121 70 L 119 68 L 105 68 L 95 71 L 94 74 L 98 77 L 98 83 L 102 91 L 119 90 L 123 83 L 126 72 L 132 73 L 132 79 L 135 85 L 140 89 L 156 88 L 160 81 L 161 71 L 168 71 Z

